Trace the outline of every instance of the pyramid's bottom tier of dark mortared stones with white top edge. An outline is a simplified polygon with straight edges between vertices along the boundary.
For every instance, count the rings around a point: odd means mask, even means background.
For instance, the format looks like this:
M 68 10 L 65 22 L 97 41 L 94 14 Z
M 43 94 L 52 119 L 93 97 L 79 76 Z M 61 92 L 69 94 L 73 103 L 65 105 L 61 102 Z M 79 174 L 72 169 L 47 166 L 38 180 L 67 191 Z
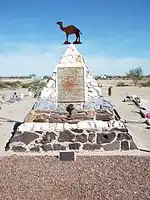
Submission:
M 116 123 L 116 124 L 115 124 Z M 14 152 L 113 151 L 137 149 L 121 122 L 24 123 L 7 150 Z

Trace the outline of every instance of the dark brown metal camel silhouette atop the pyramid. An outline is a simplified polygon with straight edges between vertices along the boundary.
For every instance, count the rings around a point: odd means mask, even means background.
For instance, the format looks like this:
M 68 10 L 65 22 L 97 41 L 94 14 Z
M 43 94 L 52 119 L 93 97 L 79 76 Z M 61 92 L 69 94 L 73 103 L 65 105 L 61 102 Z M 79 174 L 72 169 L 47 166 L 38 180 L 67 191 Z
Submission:
M 76 35 L 76 40 L 73 43 L 81 44 L 80 35 L 82 35 L 82 33 L 77 27 L 75 27 L 74 25 L 69 25 L 69 26 L 64 27 L 63 22 L 61 21 L 57 22 L 57 24 L 59 25 L 60 29 L 66 34 L 66 41 L 64 42 L 64 44 L 70 44 L 70 42 L 68 41 L 68 37 L 69 35 L 72 35 L 72 34 Z

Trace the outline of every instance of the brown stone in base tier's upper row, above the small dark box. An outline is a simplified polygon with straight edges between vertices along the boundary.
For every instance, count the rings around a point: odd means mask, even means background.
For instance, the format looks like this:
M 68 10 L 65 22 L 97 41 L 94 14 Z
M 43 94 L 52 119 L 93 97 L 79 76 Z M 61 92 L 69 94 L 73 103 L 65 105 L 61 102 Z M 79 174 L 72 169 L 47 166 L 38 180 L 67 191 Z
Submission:
M 71 131 L 64 130 L 60 131 L 58 142 L 72 142 L 74 138 L 75 135 Z

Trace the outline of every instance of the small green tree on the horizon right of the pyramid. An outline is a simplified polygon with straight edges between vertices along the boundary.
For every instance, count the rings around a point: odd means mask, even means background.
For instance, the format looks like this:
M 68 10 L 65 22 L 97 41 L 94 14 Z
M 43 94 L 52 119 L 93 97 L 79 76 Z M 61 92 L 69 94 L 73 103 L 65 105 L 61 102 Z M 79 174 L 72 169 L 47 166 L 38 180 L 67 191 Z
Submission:
M 135 69 L 131 69 L 127 73 L 127 77 L 133 80 L 134 85 L 137 85 L 138 81 L 142 80 L 143 78 L 143 70 L 141 67 L 137 67 Z

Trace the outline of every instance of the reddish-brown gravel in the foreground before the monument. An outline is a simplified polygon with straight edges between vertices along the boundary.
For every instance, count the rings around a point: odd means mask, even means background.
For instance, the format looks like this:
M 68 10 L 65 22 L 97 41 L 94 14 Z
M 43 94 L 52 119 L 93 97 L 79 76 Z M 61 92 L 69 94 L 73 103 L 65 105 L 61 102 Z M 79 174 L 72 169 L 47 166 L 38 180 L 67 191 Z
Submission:
M 11 156 L 0 160 L 0 200 L 148 200 L 150 157 Z

